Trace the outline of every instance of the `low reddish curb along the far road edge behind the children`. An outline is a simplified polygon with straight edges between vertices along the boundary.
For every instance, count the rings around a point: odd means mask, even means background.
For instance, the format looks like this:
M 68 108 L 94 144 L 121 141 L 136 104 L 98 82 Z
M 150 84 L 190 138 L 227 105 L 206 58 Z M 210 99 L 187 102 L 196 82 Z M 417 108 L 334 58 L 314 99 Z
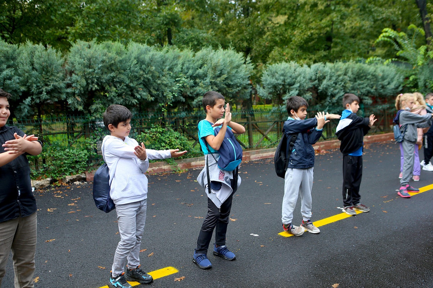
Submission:
M 374 143 L 374 142 L 385 142 L 390 140 L 394 141 L 394 133 L 364 136 L 364 144 Z M 313 145 L 313 148 L 316 151 L 339 149 L 340 140 L 317 142 L 315 145 Z M 275 148 L 244 151 L 242 153 L 242 161 L 274 158 L 274 155 L 275 155 Z M 178 159 L 175 161 L 177 164 L 177 168 L 179 170 L 204 167 L 203 157 Z M 86 172 L 87 181 L 93 181 L 93 175 L 95 171 Z M 162 161 L 162 162 L 150 163 L 149 169 L 147 169 L 146 173 L 155 174 L 155 173 L 171 172 L 171 171 L 174 171 L 174 166 L 168 164 L 167 162 Z

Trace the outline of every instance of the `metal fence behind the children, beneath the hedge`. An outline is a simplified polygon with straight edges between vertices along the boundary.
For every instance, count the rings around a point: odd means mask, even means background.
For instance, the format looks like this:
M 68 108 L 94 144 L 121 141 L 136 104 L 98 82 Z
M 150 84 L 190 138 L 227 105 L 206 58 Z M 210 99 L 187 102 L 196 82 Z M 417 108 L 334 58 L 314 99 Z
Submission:
M 307 110 L 307 117 L 311 118 L 314 117 L 317 111 L 341 114 L 343 109 L 339 106 L 310 106 Z M 361 106 L 357 114 L 361 117 L 368 117 L 370 114 L 376 115 L 378 121 L 370 133 L 385 133 L 392 130 L 392 118 L 395 114 L 395 108 L 391 104 Z M 232 120 L 246 128 L 246 133 L 237 135 L 239 143 L 245 150 L 276 147 L 287 116 L 287 111 L 282 108 L 274 108 L 267 111 L 232 112 Z M 131 121 L 132 132 L 130 136 L 136 138 L 140 133 L 146 133 L 146 130 L 155 126 L 171 127 L 190 139 L 194 150 L 200 152 L 200 145 L 197 145 L 197 123 L 203 118 L 204 113 L 202 110 L 135 114 Z M 337 124 L 338 120 L 331 120 L 330 123 L 326 124 L 323 131 L 323 139 L 336 139 L 335 129 Z M 87 116 L 42 117 L 42 119 L 35 117 L 34 119 L 26 120 L 14 119 L 13 125 L 18 126 L 28 135 L 35 134 L 39 136 L 45 147 L 55 145 L 93 150 L 92 152 L 94 153 L 88 158 L 89 167 L 99 163 L 101 158 L 100 144 L 103 137 L 107 135 L 107 130 L 103 125 L 102 119 Z M 93 139 L 94 142 L 89 141 L 89 139 Z M 90 142 L 92 145 L 89 144 Z M 55 157 L 55 155 L 51 157 Z M 45 163 L 47 161 L 46 158 L 47 155 L 34 158 L 33 161 L 36 168 L 41 163 Z

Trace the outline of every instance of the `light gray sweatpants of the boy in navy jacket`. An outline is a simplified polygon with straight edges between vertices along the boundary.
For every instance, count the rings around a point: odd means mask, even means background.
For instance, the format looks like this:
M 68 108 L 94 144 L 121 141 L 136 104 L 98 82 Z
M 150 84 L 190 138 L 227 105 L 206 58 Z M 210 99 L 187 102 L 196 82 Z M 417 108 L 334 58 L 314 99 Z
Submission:
M 311 189 L 313 188 L 313 169 L 288 168 L 284 177 L 284 197 L 281 221 L 289 224 L 293 220 L 293 211 L 298 195 L 301 196 L 302 219 L 311 218 Z

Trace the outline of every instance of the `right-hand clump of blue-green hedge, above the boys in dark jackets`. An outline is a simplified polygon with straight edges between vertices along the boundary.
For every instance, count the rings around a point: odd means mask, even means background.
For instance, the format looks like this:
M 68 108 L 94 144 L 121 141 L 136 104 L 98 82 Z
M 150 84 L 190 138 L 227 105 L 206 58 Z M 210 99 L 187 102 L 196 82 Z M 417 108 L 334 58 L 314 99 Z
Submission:
M 337 62 L 308 67 L 283 62 L 268 66 L 261 82 L 259 95 L 274 99 L 276 105 L 297 95 L 310 104 L 330 107 L 339 104 L 345 93 L 358 95 L 364 104 L 388 101 L 401 91 L 403 76 L 394 66 Z

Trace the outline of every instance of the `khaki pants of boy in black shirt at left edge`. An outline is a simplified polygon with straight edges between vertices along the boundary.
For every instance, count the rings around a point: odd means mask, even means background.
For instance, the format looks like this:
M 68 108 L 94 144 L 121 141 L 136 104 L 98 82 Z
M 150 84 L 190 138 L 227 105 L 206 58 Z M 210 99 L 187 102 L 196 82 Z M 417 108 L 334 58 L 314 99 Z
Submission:
M 36 224 L 36 212 L 26 217 L 0 222 L 0 287 L 11 250 L 15 288 L 34 287 Z

